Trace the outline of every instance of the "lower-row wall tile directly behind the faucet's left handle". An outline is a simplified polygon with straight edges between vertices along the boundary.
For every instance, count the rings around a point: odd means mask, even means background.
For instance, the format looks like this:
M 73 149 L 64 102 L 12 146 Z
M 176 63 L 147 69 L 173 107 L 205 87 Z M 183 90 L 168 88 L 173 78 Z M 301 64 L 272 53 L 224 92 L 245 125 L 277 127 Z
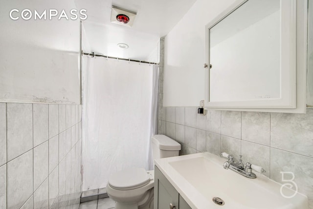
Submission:
M 234 157 L 235 161 L 239 160 L 241 154 L 241 139 L 221 136 L 221 152 L 226 152 Z

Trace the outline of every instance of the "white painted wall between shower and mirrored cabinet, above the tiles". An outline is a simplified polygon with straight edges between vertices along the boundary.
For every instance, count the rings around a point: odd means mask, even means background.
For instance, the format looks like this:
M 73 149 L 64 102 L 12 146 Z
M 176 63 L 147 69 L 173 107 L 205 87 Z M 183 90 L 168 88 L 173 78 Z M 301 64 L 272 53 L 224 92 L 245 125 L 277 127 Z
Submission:
M 164 106 L 196 106 L 204 99 L 204 26 L 235 0 L 197 0 L 165 37 Z

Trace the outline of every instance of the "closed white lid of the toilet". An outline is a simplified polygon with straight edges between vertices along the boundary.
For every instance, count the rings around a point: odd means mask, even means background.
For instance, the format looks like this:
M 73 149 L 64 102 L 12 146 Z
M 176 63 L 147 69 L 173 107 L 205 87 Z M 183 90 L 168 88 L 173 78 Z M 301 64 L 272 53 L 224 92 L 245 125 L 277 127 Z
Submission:
M 109 185 L 117 190 L 135 189 L 149 182 L 149 175 L 144 168 L 127 168 L 113 173 L 109 178 Z

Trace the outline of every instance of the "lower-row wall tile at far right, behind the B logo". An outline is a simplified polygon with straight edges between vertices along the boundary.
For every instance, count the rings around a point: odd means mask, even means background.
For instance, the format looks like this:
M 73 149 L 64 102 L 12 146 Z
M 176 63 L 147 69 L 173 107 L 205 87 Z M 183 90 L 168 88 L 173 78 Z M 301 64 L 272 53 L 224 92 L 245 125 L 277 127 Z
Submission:
M 281 172 L 293 173 L 293 182 L 297 185 L 298 191 L 308 196 L 309 208 L 313 208 L 313 158 L 270 148 L 270 178 L 285 184 L 286 182 L 282 181 Z M 291 179 L 292 174 L 284 174 L 284 178 L 285 180 Z

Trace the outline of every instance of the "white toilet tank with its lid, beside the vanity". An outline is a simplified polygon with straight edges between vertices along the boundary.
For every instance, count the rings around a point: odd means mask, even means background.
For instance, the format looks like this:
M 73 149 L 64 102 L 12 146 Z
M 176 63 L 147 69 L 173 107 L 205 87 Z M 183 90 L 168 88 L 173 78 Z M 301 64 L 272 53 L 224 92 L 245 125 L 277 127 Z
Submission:
M 179 156 L 180 144 L 165 135 L 154 135 L 151 138 L 153 159 Z

